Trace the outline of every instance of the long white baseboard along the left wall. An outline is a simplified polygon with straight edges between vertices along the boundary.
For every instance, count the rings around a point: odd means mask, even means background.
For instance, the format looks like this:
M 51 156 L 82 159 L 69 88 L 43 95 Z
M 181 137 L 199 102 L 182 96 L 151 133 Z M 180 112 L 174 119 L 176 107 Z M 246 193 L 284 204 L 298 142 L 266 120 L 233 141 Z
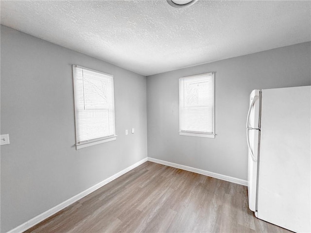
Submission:
M 117 179 L 121 175 L 125 174 L 126 172 L 134 169 L 135 167 L 143 164 L 147 161 L 147 158 L 144 158 L 137 163 L 133 164 L 132 166 L 126 167 L 125 169 L 121 170 L 120 172 L 114 174 L 113 176 L 110 176 L 109 178 L 105 179 L 104 181 L 95 184 L 94 186 L 86 189 L 85 191 L 73 196 L 72 198 L 69 198 L 68 200 L 65 200 L 64 202 L 52 207 L 51 209 L 47 210 L 46 212 L 35 216 L 34 218 L 28 220 L 27 222 L 19 225 L 18 227 L 12 229 L 11 231 L 8 231 L 7 233 L 22 233 L 29 228 L 35 226 L 39 222 L 47 219 L 48 217 L 52 216 L 53 214 L 57 213 L 58 211 L 61 211 L 62 209 L 66 208 L 67 206 L 71 205 L 72 203 L 76 202 L 77 200 L 80 200 L 84 198 L 86 195 L 94 192 L 96 189 L 99 189 L 100 187 L 104 186 L 105 184 Z

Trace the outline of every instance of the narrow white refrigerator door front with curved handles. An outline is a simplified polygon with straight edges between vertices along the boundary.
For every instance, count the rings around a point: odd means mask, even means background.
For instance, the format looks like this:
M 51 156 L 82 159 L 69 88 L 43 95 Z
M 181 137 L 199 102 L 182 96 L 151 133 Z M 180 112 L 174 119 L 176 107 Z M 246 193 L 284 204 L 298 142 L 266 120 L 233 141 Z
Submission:
M 248 145 L 248 207 L 256 211 L 257 160 L 259 143 L 259 90 L 250 94 L 250 106 L 246 122 L 246 140 Z

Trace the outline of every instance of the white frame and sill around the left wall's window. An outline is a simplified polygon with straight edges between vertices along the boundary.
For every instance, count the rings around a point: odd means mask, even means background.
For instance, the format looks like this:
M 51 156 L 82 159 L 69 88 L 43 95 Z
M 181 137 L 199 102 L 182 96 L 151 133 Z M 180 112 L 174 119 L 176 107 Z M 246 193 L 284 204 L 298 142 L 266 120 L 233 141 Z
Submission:
M 103 136 L 103 137 L 97 137 L 97 138 L 92 138 L 92 139 L 88 139 L 85 141 L 78 141 L 78 127 L 79 127 L 79 119 L 78 119 L 78 111 L 81 111 L 78 109 L 78 100 L 77 100 L 77 95 L 78 95 L 78 90 L 76 89 L 76 78 L 77 78 L 77 74 L 76 74 L 76 68 L 80 68 L 80 69 L 84 69 L 84 70 L 88 70 L 88 71 L 92 71 L 92 72 L 96 72 L 99 75 L 103 75 L 105 77 L 111 78 L 112 80 L 112 97 L 113 97 L 113 134 L 112 135 L 108 135 L 108 136 Z M 86 148 L 86 147 L 90 147 L 93 145 L 97 145 L 97 144 L 101 144 L 101 143 L 105 143 L 105 142 L 110 142 L 113 140 L 116 140 L 116 124 L 115 124 L 115 110 L 114 110 L 114 78 L 113 75 L 111 74 L 106 74 L 104 72 L 100 72 L 97 70 L 93 70 L 90 68 L 86 68 L 86 67 L 81 67 L 81 66 L 77 66 L 77 65 L 72 65 L 72 71 L 73 71 L 73 90 L 74 90 L 74 109 L 75 109 L 75 133 L 76 133 L 76 149 L 82 149 L 82 148 Z M 83 85 L 83 87 L 85 87 Z M 80 93 L 81 94 L 81 93 Z

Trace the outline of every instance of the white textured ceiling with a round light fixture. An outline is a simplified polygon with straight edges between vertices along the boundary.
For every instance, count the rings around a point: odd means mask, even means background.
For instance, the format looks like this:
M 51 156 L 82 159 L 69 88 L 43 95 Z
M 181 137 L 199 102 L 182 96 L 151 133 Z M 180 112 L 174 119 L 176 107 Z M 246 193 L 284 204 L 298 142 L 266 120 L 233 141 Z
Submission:
M 146 76 L 311 41 L 309 0 L 0 4 L 3 25 Z

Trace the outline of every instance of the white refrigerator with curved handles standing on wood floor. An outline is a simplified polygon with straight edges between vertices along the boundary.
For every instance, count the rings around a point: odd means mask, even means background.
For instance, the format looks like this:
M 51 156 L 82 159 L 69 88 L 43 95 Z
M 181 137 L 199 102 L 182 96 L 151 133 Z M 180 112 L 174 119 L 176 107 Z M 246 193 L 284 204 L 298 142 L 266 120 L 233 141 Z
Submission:
M 264 221 L 311 232 L 311 86 L 253 90 L 248 200 Z

